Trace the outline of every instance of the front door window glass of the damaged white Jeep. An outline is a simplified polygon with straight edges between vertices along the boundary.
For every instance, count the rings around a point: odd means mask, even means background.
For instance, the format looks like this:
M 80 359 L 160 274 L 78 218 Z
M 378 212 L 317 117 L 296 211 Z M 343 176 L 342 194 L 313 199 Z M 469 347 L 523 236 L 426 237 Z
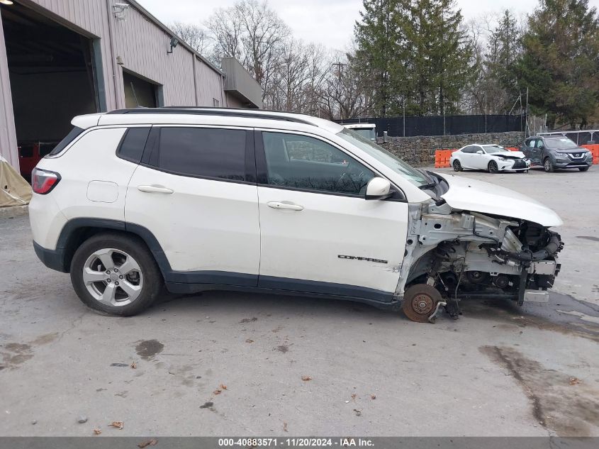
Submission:
M 364 194 L 375 174 L 341 150 L 306 135 L 262 133 L 267 183 L 275 186 Z

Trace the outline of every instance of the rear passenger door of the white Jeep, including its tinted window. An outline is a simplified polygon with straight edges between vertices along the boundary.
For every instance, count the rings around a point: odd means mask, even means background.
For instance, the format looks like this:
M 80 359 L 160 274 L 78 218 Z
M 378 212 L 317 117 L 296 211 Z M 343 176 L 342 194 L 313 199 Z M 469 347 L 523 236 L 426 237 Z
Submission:
M 252 130 L 153 127 L 129 182 L 125 221 L 155 236 L 169 265 L 167 282 L 255 287 L 260 229 Z

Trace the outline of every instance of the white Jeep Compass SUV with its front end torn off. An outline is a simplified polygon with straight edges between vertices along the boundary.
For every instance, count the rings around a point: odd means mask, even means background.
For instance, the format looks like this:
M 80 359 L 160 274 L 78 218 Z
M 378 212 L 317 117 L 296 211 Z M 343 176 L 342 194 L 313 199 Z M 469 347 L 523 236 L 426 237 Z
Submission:
M 165 285 L 334 296 L 427 321 L 462 298 L 545 300 L 559 271 L 553 211 L 415 170 L 337 123 L 214 108 L 72 123 L 33 171 L 33 245 L 110 314 L 137 314 Z

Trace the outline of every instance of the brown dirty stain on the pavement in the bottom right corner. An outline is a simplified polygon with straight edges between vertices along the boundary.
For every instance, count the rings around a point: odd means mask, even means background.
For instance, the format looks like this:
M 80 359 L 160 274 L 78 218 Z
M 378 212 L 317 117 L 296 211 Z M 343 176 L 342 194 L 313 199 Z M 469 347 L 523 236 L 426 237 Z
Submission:
M 591 436 L 599 423 L 599 389 L 571 384 L 571 373 L 550 370 L 513 348 L 481 346 L 482 353 L 508 370 L 529 397 L 532 416 L 558 436 Z

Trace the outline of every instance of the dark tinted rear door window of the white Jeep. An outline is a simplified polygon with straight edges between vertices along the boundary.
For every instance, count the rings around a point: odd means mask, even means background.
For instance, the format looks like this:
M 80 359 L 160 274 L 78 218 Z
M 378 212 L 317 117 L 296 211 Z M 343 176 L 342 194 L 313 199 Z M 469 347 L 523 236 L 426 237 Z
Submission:
M 244 130 L 162 128 L 159 168 L 188 176 L 245 180 Z

